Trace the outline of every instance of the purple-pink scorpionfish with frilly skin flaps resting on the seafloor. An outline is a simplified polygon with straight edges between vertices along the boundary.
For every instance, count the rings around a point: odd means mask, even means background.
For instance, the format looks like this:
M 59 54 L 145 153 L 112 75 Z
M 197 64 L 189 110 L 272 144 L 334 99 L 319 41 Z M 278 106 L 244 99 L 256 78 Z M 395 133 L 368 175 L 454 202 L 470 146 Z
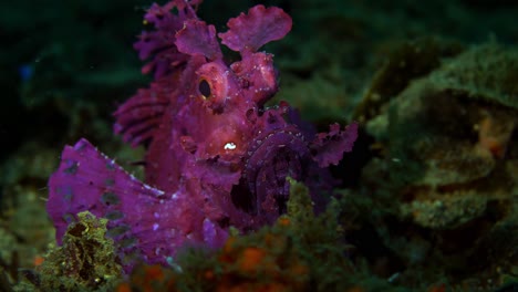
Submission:
M 85 139 L 65 147 L 49 181 L 58 241 L 77 212 L 106 217 L 127 271 L 138 260 L 166 264 L 184 244 L 220 247 L 229 226 L 246 232 L 274 221 L 287 176 L 323 206 L 318 190 L 335 181 L 322 167 L 338 164 L 356 138 L 355 124 L 317 134 L 287 103 L 265 108 L 278 77 L 272 55 L 257 50 L 288 33 L 288 14 L 257 6 L 231 19 L 218 35 L 241 60 L 227 65 L 214 25 L 196 17 L 199 2 L 152 6 L 145 19 L 156 31 L 135 48 L 152 58 L 143 72 L 154 71 L 155 81 L 114 114 L 115 133 L 147 147 L 146 184 Z

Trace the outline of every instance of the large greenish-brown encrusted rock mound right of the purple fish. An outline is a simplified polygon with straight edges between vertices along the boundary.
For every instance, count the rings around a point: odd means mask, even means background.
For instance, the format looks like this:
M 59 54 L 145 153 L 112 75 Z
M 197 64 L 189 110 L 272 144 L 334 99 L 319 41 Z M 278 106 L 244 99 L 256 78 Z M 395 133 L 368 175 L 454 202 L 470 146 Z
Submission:
M 498 53 L 488 56 L 488 50 Z M 486 194 L 486 200 L 512 194 L 516 182 L 509 170 L 515 164 L 516 106 L 509 101 L 517 95 L 505 88 L 509 88 L 508 80 L 518 70 L 517 60 L 515 51 L 489 43 L 468 50 L 428 77 L 413 82 L 366 124 L 387 159 L 373 160 L 365 171 L 383 171 L 388 163 L 391 176 L 403 179 L 387 185 L 403 187 L 406 200 L 449 192 L 456 192 L 450 197 L 458 199 L 469 189 Z M 501 64 L 499 73 L 495 73 L 495 63 Z M 467 81 L 454 83 L 456 79 Z M 414 171 L 408 174 L 408 169 Z M 501 179 L 507 181 L 505 186 Z M 428 191 L 429 196 L 425 194 Z

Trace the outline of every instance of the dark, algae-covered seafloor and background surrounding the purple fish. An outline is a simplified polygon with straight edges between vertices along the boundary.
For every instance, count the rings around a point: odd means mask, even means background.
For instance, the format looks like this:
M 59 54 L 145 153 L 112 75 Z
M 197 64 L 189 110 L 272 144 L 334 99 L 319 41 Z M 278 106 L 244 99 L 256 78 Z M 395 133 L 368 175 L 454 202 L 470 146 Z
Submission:
M 84 215 L 56 248 L 44 206 L 65 144 L 87 137 L 142 171 L 112 113 L 149 81 L 132 43 L 151 2 L 4 2 L 0 291 L 518 291 L 518 2 L 206 0 L 199 15 L 220 30 L 257 3 L 293 18 L 265 48 L 274 103 L 360 123 L 334 205 L 304 213 L 292 185 L 273 227 L 130 279 L 102 220 Z

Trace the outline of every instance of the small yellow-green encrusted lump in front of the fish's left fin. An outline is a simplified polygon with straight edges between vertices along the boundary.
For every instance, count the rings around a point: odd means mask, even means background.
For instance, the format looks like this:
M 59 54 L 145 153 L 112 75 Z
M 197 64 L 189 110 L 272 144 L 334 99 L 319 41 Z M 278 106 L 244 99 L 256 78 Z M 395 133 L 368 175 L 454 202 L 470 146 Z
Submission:
M 107 219 L 85 211 L 70 225 L 63 244 L 38 267 L 35 285 L 43 291 L 110 291 L 122 277 L 113 241 L 106 239 Z

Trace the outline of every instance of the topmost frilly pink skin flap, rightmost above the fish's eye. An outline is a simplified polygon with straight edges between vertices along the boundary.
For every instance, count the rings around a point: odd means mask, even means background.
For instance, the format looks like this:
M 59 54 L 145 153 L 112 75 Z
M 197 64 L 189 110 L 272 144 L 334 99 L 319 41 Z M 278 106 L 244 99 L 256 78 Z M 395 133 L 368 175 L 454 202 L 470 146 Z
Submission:
M 236 52 L 257 52 L 259 48 L 277 41 L 291 30 L 291 18 L 277 7 L 256 6 L 227 22 L 229 30 L 219 33 L 221 43 Z

